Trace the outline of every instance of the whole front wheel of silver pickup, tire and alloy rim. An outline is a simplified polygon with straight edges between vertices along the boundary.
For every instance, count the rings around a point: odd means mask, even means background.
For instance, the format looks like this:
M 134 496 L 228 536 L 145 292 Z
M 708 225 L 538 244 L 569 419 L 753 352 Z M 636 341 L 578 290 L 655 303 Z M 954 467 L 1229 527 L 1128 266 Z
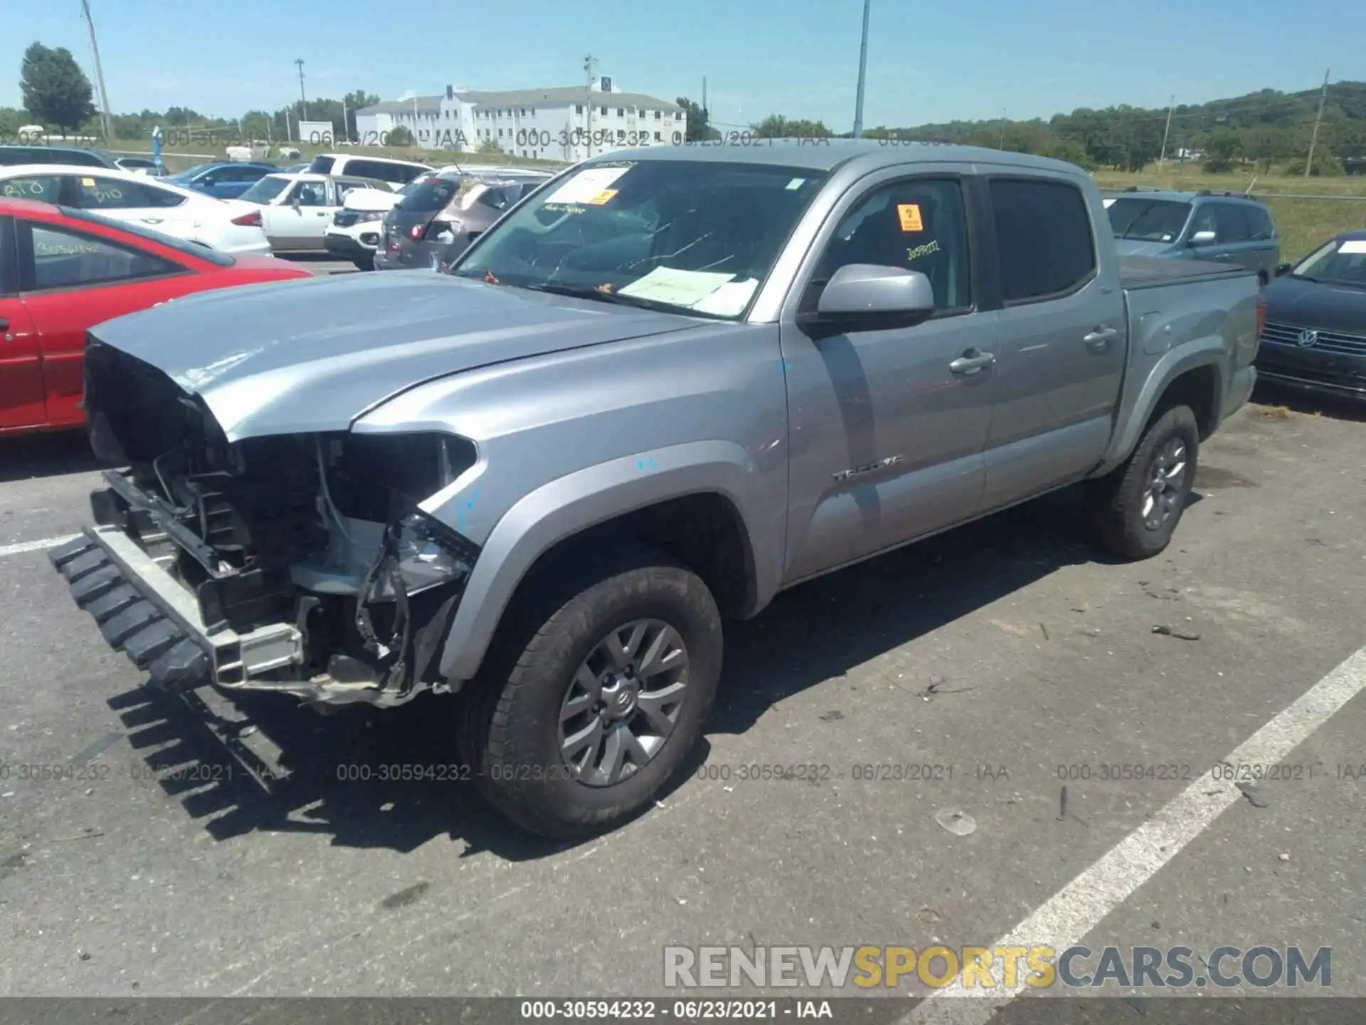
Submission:
M 484 795 L 544 836 L 645 806 L 701 735 L 721 672 L 716 601 L 668 556 L 641 552 L 581 586 L 511 671 L 490 660 L 462 716 L 462 757 Z

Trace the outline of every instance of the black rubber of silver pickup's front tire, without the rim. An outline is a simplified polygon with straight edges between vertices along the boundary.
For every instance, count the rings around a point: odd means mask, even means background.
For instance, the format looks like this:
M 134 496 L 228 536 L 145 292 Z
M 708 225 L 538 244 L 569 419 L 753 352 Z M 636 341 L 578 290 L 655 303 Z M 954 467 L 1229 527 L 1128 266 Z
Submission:
M 600 831 L 643 808 L 702 734 L 721 675 L 721 618 L 702 579 L 642 549 L 581 570 L 572 594 L 512 619 L 471 681 L 460 713 L 460 757 L 484 797 L 542 836 Z M 530 588 L 527 590 L 535 590 Z M 656 619 L 687 649 L 686 698 L 658 750 L 617 783 L 574 778 L 560 754 L 560 709 L 575 671 L 613 629 Z

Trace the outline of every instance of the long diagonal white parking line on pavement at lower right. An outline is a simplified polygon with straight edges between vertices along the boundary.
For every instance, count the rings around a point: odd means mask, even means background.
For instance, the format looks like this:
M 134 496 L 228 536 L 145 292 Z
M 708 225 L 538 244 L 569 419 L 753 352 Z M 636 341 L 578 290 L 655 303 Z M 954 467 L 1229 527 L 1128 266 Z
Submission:
M 1300 694 L 1224 761 L 1233 765 L 1279 763 L 1362 690 L 1366 690 L 1366 648 Z M 1048 944 L 1063 951 L 1079 943 L 1242 797 L 1232 783 L 1206 772 L 993 946 Z M 1016 985 L 1009 989 L 1004 985 L 964 989 L 955 981 L 926 998 L 902 1024 L 985 1025 L 997 1007 L 1026 988 L 1024 976 L 1023 972 L 1016 974 Z M 978 999 L 945 999 L 955 996 Z

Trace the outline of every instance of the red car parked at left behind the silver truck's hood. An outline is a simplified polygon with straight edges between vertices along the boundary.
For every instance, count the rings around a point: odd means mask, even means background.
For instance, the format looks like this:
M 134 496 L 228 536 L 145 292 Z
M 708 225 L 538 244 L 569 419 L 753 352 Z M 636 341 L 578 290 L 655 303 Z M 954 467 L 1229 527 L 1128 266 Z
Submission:
M 0 198 L 0 435 L 85 422 L 87 328 L 178 295 L 309 276 L 275 257 Z

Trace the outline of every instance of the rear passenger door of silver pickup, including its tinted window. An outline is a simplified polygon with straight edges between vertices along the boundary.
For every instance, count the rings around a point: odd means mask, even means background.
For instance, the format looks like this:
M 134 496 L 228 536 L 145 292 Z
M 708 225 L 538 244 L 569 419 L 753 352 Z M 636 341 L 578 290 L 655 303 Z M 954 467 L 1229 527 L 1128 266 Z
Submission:
M 989 175 L 985 186 L 1001 308 L 984 511 L 1079 478 L 1101 461 L 1127 353 L 1100 201 L 1091 209 L 1079 182 L 1027 169 Z

